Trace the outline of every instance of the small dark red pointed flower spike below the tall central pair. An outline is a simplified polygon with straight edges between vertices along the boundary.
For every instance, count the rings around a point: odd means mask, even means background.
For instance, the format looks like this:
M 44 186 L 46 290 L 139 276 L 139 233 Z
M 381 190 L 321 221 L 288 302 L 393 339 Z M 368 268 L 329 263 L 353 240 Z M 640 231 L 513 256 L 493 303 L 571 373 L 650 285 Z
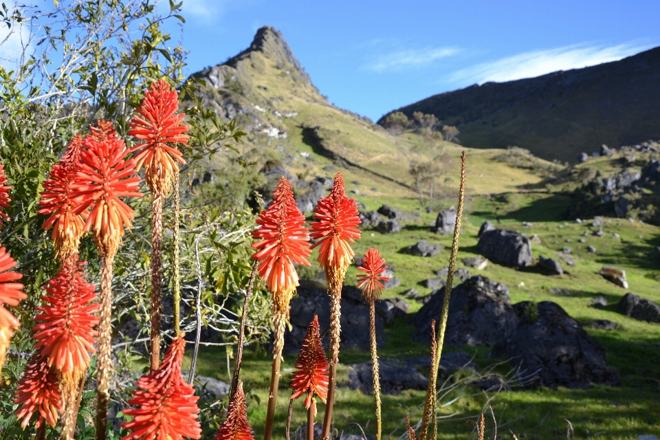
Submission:
M 325 404 L 328 397 L 329 374 L 328 360 L 325 357 L 325 351 L 323 351 L 321 343 L 318 315 L 314 316 L 314 319 L 309 323 L 307 335 L 305 335 L 302 345 L 300 355 L 298 355 L 296 364 L 294 364 L 297 371 L 294 371 L 291 380 L 291 387 L 294 388 L 291 398 L 297 399 L 307 393 L 305 408 L 309 409 L 309 406 L 312 406 L 316 416 L 314 394 L 318 395 Z

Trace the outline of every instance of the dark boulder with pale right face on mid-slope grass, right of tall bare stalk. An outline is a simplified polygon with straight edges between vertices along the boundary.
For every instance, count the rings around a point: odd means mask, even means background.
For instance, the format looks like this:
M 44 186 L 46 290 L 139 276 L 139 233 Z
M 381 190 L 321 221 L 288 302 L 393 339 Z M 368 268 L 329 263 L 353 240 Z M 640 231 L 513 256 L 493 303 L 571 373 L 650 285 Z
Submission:
M 483 225 L 482 225 L 483 228 Z M 531 266 L 531 243 L 520 232 L 493 229 L 482 232 L 476 250 L 487 258 L 509 267 Z

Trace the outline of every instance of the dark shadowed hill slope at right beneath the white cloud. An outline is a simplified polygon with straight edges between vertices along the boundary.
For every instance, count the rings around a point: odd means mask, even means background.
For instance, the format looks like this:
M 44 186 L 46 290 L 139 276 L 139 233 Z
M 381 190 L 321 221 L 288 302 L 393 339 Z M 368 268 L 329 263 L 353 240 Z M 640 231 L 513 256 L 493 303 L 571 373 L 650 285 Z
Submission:
M 660 47 L 621 61 L 507 83 L 485 83 L 402 107 L 455 125 L 478 148 L 520 146 L 574 162 L 601 144 L 660 138 Z M 382 119 L 381 119 L 382 121 Z M 380 122 L 380 121 L 379 121 Z

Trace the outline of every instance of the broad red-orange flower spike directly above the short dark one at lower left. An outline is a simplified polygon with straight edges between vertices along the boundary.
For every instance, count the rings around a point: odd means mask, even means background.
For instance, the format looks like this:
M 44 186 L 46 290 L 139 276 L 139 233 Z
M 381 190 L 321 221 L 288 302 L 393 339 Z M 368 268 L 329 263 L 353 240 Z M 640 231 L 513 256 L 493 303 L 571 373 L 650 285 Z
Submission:
M 78 380 L 89 365 L 89 353 L 96 352 L 95 336 L 98 331 L 100 305 L 91 304 L 98 299 L 94 285 L 83 278 L 85 262 L 78 255 L 65 261 L 55 278 L 48 281 L 47 295 L 41 299 L 47 305 L 37 307 L 42 314 L 34 320 L 41 322 L 32 328 L 36 347 L 41 348 L 48 365 L 62 376 Z

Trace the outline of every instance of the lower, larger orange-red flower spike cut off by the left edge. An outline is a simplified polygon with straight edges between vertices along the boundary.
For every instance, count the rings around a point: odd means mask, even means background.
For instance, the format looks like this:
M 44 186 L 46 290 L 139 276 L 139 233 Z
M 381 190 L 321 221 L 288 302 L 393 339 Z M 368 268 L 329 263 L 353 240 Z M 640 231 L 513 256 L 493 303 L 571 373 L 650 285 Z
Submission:
M 23 293 L 23 285 L 13 283 L 13 281 L 23 278 L 23 274 L 10 271 L 16 264 L 16 261 L 6 252 L 5 248 L 0 248 L 0 371 L 5 363 L 5 354 L 12 336 L 14 336 L 14 329 L 21 327 L 19 320 L 14 318 L 14 315 L 2 305 L 16 307 L 19 305 L 19 300 L 28 298 Z

